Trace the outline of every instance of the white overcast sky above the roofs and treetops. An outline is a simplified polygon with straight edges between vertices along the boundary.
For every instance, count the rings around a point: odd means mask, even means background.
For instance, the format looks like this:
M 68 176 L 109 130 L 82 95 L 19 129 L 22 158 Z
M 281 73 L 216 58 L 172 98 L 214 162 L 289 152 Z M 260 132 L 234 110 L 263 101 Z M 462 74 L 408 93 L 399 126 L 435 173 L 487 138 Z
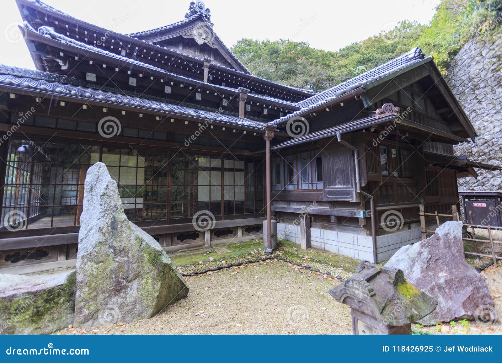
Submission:
M 21 16 L 14 0 L 0 0 L 0 63 L 34 68 L 22 39 L 12 34 Z M 80 20 L 119 33 L 132 33 L 184 19 L 188 0 L 46 0 Z M 392 29 L 401 20 L 428 23 L 439 0 L 354 0 L 237 2 L 207 0 L 214 30 L 232 46 L 241 38 L 292 39 L 315 48 L 336 51 Z M 410 44 L 410 49 L 413 44 Z

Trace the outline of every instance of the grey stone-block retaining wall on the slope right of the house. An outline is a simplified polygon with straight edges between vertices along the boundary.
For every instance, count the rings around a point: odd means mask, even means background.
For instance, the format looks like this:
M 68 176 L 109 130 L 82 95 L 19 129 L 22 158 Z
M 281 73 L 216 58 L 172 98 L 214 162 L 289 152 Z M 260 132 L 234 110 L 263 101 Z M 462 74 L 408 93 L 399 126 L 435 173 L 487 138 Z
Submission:
M 502 31 L 472 39 L 450 63 L 445 77 L 470 118 L 475 144 L 455 147 L 455 154 L 502 165 Z M 477 169 L 479 177 L 459 178 L 459 191 L 502 191 L 502 173 Z

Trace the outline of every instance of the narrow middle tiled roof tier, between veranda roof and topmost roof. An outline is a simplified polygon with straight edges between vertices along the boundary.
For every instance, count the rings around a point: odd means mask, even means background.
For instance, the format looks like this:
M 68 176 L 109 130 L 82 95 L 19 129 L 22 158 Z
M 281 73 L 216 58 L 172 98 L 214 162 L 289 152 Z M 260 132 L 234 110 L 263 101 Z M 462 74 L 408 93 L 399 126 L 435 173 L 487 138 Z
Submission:
M 31 27 L 29 27 L 29 28 L 31 28 Z M 25 32 L 35 32 L 35 31 L 32 30 L 32 29 L 27 29 Z M 220 86 L 220 85 L 211 84 L 211 83 L 204 83 L 204 82 L 202 82 L 201 80 L 198 80 L 198 79 L 194 79 L 194 78 L 190 78 L 190 77 L 185 77 L 185 76 L 179 75 L 177 73 L 168 72 L 168 71 L 165 71 L 164 69 L 156 67 L 154 65 L 151 65 L 151 64 L 148 64 L 148 63 L 144 63 L 144 62 L 138 61 L 136 59 L 124 57 L 124 56 L 121 56 L 121 55 L 118 55 L 118 54 L 115 54 L 115 53 L 112 53 L 112 52 L 108 52 L 108 51 L 106 51 L 104 49 L 97 48 L 97 47 L 94 47 L 92 45 L 79 42 L 79 41 L 77 41 L 77 40 L 75 40 L 73 38 L 69 38 L 69 37 L 67 37 L 65 35 L 59 34 L 59 33 L 55 32 L 54 29 L 52 29 L 50 27 L 47 27 L 47 26 L 40 27 L 38 32 L 40 34 L 42 34 L 42 35 L 50 38 L 50 39 L 56 39 L 56 40 L 60 41 L 61 43 L 68 44 L 68 45 L 71 45 L 71 46 L 75 46 L 77 48 L 85 49 L 85 50 L 92 51 L 92 52 L 95 52 L 95 53 L 99 53 L 99 54 L 105 55 L 107 57 L 111 57 L 111 58 L 114 58 L 114 59 L 121 60 L 123 62 L 133 63 L 133 64 L 139 65 L 141 67 L 145 67 L 145 68 L 148 68 L 148 69 L 151 69 L 151 70 L 155 70 L 157 72 L 166 74 L 168 76 L 171 76 L 171 77 L 174 77 L 174 78 L 177 78 L 177 79 L 182 79 L 182 80 L 187 81 L 189 83 L 195 84 L 197 87 L 209 86 L 211 89 L 221 89 L 221 90 L 224 89 L 224 90 L 231 91 L 233 94 L 237 94 L 238 93 L 237 89 L 235 89 L 235 88 L 226 87 L 226 86 Z M 26 34 L 26 33 L 24 33 L 24 34 Z M 258 99 L 268 100 L 268 101 L 274 102 L 274 103 L 276 103 L 278 105 L 289 105 L 289 106 L 292 106 L 293 109 L 296 108 L 294 102 L 282 100 L 282 99 L 279 99 L 279 98 L 270 97 L 270 96 L 266 96 L 266 95 L 262 95 L 262 94 L 256 94 L 256 93 L 249 93 L 248 96 L 250 96 L 252 98 L 258 98 Z

